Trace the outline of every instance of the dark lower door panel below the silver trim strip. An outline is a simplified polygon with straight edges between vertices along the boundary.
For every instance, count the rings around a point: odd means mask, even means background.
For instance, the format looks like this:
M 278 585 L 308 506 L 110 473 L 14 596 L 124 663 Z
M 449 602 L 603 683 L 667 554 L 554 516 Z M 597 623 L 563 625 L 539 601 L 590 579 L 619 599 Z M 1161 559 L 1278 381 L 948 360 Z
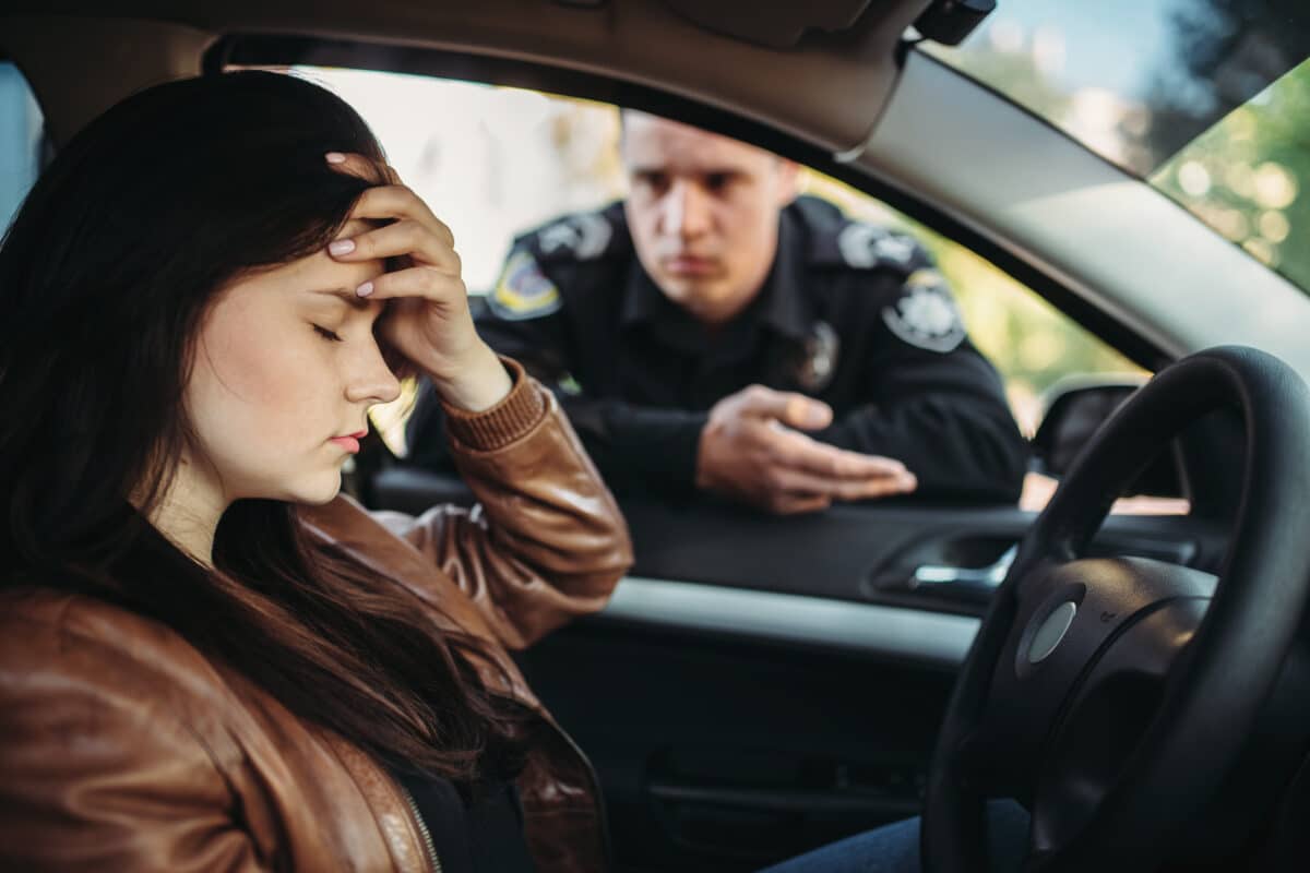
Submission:
M 913 814 L 952 682 L 605 615 L 519 661 L 600 774 L 621 870 L 753 870 Z

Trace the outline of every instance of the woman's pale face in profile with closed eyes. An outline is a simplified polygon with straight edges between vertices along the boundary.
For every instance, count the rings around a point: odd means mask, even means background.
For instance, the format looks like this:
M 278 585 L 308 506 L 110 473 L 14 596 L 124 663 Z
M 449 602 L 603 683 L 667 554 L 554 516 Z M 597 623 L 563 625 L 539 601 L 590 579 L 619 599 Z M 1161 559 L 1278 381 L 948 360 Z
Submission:
M 367 229 L 351 221 L 339 237 Z M 195 435 L 187 461 L 224 504 L 337 496 L 358 450 L 350 437 L 367 431 L 371 406 L 400 393 L 373 338 L 383 304 L 355 296 L 381 272 L 381 262 L 320 251 L 221 292 L 185 402 Z

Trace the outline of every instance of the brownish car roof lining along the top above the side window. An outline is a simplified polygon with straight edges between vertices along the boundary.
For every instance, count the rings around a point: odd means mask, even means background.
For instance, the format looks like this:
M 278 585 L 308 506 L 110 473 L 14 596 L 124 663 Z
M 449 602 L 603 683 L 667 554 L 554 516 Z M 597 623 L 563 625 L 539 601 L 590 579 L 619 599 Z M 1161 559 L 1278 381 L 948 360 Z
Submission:
M 706 29 L 665 0 L 609 0 L 588 8 L 548 0 L 16 0 L 0 41 L 20 68 L 42 67 L 43 75 L 30 79 L 42 80 L 38 97 L 56 143 L 132 90 L 198 73 L 194 64 L 179 63 L 194 56 L 198 42 L 227 34 L 297 34 L 572 69 L 734 111 L 844 152 L 867 139 L 895 88 L 901 35 L 930 4 L 866 3 L 849 26 L 808 26 L 794 45 L 777 48 Z M 820 3 L 808 18 L 795 21 L 832 24 L 840 18 L 832 10 L 849 16 L 857 7 L 854 0 Z M 827 17 L 820 14 L 825 9 Z M 131 46 L 130 55 L 114 43 Z M 54 54 L 62 76 L 42 56 L 52 45 L 60 46 Z M 114 77 L 97 76 L 106 64 Z M 760 76 L 760 69 L 770 76 Z

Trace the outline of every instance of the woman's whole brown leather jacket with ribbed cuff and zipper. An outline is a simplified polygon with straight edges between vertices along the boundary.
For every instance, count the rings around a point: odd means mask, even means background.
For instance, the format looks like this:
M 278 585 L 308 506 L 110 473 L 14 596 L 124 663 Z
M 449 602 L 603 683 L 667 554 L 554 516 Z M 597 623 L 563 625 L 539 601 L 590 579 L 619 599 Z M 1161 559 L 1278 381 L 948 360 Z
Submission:
M 472 512 L 309 513 L 331 538 L 499 645 L 507 691 L 548 725 L 519 779 L 537 869 L 599 870 L 595 775 L 507 648 L 604 606 L 631 563 L 613 497 L 554 398 L 523 376 L 449 411 Z M 504 687 L 494 670 L 489 682 Z M 436 847 L 438 856 L 440 847 Z M 438 863 L 439 864 L 439 863 Z M 50 589 L 0 593 L 0 869 L 434 870 L 398 784 L 339 737 L 168 627 Z

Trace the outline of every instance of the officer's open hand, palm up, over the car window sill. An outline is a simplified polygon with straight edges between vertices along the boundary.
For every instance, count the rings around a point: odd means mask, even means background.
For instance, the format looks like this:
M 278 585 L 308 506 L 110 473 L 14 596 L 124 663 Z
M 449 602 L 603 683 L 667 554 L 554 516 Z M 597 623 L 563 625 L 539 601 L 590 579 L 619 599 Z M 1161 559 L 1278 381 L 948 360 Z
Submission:
M 778 514 L 914 490 L 914 475 L 900 461 L 824 445 L 799 432 L 831 421 L 832 408 L 803 394 L 752 385 L 726 397 L 701 431 L 696 486 Z

